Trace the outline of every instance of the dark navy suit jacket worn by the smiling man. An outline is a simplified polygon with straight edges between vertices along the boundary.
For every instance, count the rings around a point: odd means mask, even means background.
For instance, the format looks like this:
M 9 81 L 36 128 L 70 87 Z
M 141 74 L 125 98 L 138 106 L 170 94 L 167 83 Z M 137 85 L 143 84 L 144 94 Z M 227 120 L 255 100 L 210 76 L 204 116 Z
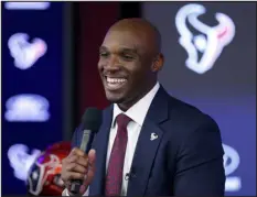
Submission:
M 103 112 L 95 136 L 96 174 L 89 195 L 104 195 L 113 105 Z M 151 133 L 158 139 L 150 140 Z M 82 131 L 73 136 L 79 146 Z M 223 196 L 221 133 L 215 121 L 161 87 L 143 122 L 131 164 L 127 196 Z

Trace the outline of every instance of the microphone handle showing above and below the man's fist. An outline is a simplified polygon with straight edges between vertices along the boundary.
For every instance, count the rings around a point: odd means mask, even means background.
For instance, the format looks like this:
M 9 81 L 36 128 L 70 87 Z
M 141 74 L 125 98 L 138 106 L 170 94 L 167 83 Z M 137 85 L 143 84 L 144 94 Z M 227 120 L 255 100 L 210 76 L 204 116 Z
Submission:
M 90 146 L 92 146 L 92 142 L 94 139 L 94 132 L 90 130 L 84 130 L 83 131 L 83 139 L 82 139 L 82 143 L 81 143 L 81 150 L 85 151 L 86 154 L 88 154 Z M 73 193 L 74 195 L 79 194 L 79 188 L 83 184 L 82 179 L 74 179 L 72 180 L 72 185 L 71 185 L 71 193 Z

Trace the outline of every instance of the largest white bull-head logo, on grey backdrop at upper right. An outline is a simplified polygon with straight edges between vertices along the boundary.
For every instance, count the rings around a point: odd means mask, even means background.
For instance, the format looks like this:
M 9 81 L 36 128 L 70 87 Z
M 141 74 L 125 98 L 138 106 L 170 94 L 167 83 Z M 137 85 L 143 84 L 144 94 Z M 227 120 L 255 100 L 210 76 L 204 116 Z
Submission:
M 224 13 L 215 14 L 218 21 L 216 26 L 208 26 L 201 22 L 197 18 L 205 11 L 203 6 L 192 3 L 182 7 L 175 17 L 175 25 L 180 33 L 179 43 L 189 55 L 185 65 L 197 74 L 204 74 L 213 67 L 223 48 L 235 35 L 235 24 Z M 191 28 L 200 32 L 199 35 L 193 35 L 186 21 Z M 202 54 L 201 58 L 199 53 Z

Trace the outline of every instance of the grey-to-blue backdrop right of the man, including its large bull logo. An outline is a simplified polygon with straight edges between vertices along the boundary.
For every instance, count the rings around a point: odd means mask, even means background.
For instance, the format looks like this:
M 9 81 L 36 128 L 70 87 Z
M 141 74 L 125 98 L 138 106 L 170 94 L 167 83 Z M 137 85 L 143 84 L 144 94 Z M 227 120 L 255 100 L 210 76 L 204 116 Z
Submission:
M 226 195 L 256 195 L 255 2 L 144 2 L 162 34 L 167 90 L 218 123 Z

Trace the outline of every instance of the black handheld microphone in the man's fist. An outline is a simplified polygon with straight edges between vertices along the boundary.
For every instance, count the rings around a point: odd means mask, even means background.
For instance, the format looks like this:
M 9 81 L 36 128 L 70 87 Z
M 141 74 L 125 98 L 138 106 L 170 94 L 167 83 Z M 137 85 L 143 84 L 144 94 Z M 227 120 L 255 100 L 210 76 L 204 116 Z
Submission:
M 85 151 L 88 154 L 92 149 L 92 143 L 96 132 L 99 130 L 101 124 L 101 111 L 96 108 L 87 108 L 83 118 L 82 118 L 82 130 L 83 130 L 83 139 L 81 143 L 81 150 Z M 77 195 L 79 193 L 79 188 L 83 184 L 81 179 L 72 180 L 71 193 Z

